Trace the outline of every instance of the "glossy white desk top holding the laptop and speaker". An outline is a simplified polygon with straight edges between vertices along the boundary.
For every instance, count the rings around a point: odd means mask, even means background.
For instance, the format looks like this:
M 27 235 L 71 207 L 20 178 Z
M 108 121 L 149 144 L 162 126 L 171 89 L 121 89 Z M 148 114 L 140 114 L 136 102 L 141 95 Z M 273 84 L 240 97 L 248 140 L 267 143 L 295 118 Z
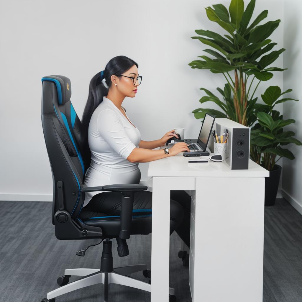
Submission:
M 149 162 L 148 176 L 159 177 L 268 177 L 269 171 L 249 159 L 248 170 L 231 170 L 223 162 L 212 162 L 209 156 L 175 156 Z M 212 155 L 213 153 L 210 153 Z M 188 163 L 189 160 L 208 159 L 207 163 Z

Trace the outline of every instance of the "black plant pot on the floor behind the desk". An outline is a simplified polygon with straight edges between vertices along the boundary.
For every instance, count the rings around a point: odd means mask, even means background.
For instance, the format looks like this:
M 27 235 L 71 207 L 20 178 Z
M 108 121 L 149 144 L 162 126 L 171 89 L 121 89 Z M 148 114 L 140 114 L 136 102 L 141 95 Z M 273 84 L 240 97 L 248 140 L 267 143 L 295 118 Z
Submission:
M 273 206 L 276 201 L 278 186 L 281 175 L 281 166 L 274 165 L 274 168 L 269 171 L 269 177 L 265 177 L 265 197 L 264 205 L 266 207 Z

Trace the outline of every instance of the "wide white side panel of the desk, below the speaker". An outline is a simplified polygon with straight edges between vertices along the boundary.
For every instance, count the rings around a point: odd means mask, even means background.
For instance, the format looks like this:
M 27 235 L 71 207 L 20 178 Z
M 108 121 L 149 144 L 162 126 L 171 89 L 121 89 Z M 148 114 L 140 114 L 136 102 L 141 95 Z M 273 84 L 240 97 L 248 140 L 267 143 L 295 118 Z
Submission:
M 262 302 L 264 182 L 196 179 L 194 302 Z

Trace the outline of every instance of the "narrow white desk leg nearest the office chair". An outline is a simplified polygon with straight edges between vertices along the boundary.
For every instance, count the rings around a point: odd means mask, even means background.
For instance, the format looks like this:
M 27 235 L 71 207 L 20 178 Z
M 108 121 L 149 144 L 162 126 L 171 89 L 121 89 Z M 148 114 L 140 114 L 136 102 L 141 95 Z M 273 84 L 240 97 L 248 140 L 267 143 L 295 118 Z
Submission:
M 153 177 L 151 302 L 165 302 L 169 299 L 169 244 L 169 178 Z

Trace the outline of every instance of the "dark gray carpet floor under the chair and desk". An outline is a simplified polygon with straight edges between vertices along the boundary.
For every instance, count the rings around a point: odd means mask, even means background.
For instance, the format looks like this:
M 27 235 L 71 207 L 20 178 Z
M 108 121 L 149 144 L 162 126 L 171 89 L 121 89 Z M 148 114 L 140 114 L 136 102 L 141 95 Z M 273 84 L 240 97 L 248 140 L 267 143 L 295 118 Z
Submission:
M 39 302 L 47 292 L 58 287 L 56 279 L 64 275 L 65 268 L 100 267 L 102 245 L 90 247 L 85 257 L 76 256 L 78 249 L 98 243 L 98 239 L 56 239 L 50 202 L 0 201 L 0 205 L 0 301 Z M 128 240 L 130 255 L 127 257 L 118 257 L 116 241 L 112 243 L 115 267 L 146 263 L 150 268 L 151 234 L 132 236 Z M 180 246 L 178 235 L 173 233 L 170 286 L 175 288 L 178 301 L 191 302 L 189 270 L 177 256 Z M 149 280 L 141 272 L 131 276 Z M 76 277 L 71 277 L 73 280 Z M 263 301 L 300 302 L 301 281 L 302 216 L 284 199 L 277 199 L 275 206 L 265 208 Z M 150 301 L 150 294 L 110 284 L 109 299 L 143 302 Z M 60 301 L 103 301 L 103 289 L 93 285 L 57 297 L 56 302 Z

